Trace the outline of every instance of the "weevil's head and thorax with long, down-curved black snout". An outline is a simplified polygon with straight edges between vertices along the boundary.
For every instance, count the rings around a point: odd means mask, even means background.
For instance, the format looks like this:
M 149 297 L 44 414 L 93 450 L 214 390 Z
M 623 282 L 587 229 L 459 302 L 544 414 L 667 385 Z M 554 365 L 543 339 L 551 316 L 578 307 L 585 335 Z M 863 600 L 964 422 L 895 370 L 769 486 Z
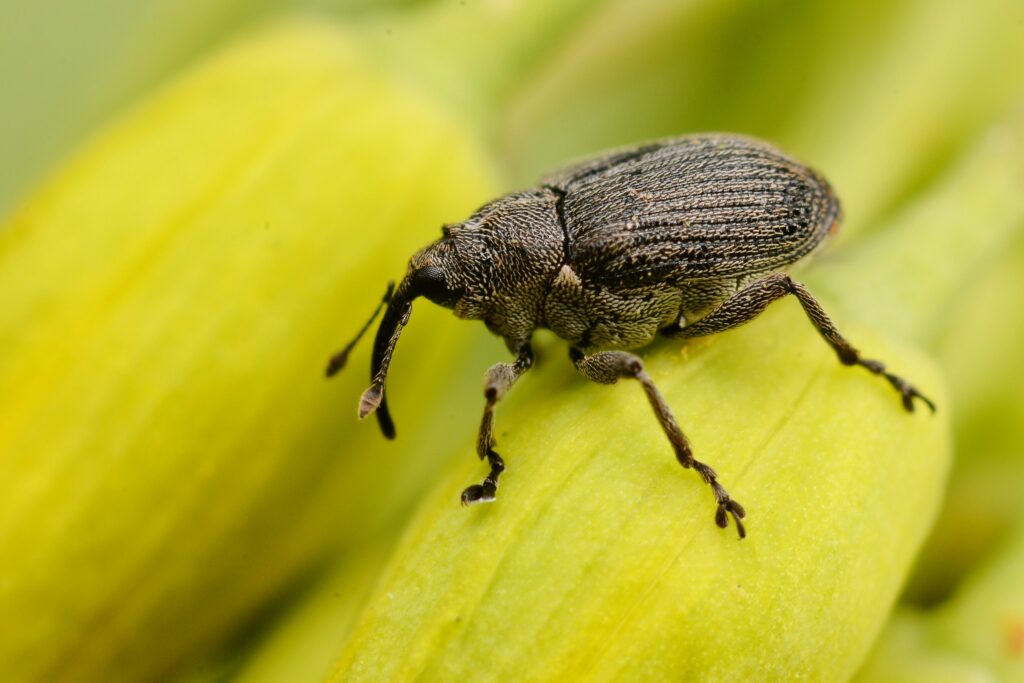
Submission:
M 376 411 L 381 431 L 394 436 L 384 382 L 419 297 L 459 317 L 482 319 L 510 345 L 528 337 L 540 325 L 544 293 L 561 264 L 563 232 L 556 204 L 557 197 L 547 189 L 506 195 L 465 221 L 444 225 L 439 240 L 410 259 L 377 329 L 373 384 L 362 394 L 359 417 Z

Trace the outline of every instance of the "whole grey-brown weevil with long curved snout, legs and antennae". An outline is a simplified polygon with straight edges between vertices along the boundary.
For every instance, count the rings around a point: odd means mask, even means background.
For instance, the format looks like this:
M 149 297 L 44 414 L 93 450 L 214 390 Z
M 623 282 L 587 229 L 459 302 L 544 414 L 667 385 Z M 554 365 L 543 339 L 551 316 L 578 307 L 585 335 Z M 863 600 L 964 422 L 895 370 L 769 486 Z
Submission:
M 745 536 L 743 506 L 696 460 L 689 441 L 639 356 L 627 349 L 656 335 L 691 339 L 750 322 L 793 295 L 840 362 L 879 375 L 899 392 L 935 404 L 879 360 L 861 356 L 821 305 L 786 269 L 815 251 L 842 219 L 828 182 L 774 146 L 732 134 L 655 140 L 613 150 L 543 178 L 538 187 L 484 204 L 410 259 L 373 316 L 327 374 L 386 306 L 371 361 L 371 386 L 358 415 L 376 411 L 394 437 L 384 382 L 413 301 L 425 297 L 458 317 L 481 319 L 515 355 L 484 377 L 476 453 L 490 471 L 462 493 L 463 505 L 494 501 L 505 462 L 495 451 L 495 405 L 534 365 L 530 338 L 547 329 L 566 340 L 577 370 L 600 384 L 633 379 L 684 468 L 715 495 L 715 521 Z

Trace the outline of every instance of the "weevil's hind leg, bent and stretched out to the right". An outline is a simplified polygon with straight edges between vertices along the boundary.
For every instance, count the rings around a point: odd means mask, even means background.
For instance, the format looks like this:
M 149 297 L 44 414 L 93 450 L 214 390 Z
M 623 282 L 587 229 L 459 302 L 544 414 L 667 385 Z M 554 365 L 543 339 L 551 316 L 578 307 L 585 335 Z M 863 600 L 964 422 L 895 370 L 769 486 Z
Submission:
M 836 351 L 840 362 L 845 366 L 860 366 L 876 375 L 885 377 L 900 392 L 903 398 L 903 408 L 910 413 L 913 412 L 914 398 L 920 398 L 933 413 L 935 412 L 935 403 L 931 399 L 918 391 L 902 377 L 886 371 L 885 364 L 879 360 L 862 358 L 860 351 L 840 334 L 839 330 L 836 329 L 836 325 L 828 317 L 828 314 L 821 308 L 821 304 L 811 296 L 807 288 L 795 282 L 785 273 L 776 273 L 764 280 L 759 280 L 734 294 L 721 306 L 692 325 L 682 328 L 666 328 L 662 333 L 670 337 L 689 339 L 722 332 L 723 330 L 728 330 L 729 328 L 734 328 L 737 325 L 742 325 L 754 319 L 768 304 L 787 294 L 797 297 L 800 305 L 804 307 L 807 317 L 810 318 L 811 323 L 817 329 L 818 334 Z

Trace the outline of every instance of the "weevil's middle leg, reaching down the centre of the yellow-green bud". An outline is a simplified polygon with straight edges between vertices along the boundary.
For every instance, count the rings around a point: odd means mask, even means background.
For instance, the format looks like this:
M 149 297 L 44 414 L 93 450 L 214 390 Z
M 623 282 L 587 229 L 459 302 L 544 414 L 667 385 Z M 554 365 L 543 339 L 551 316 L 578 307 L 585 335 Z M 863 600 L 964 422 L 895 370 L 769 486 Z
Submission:
M 650 376 L 644 371 L 643 361 L 638 356 L 626 351 L 601 351 L 593 355 L 585 355 L 578 348 L 569 349 L 569 357 L 572 358 L 577 370 L 599 384 L 614 384 L 620 379 L 634 379 L 640 382 L 644 393 L 647 394 L 647 400 L 650 401 L 650 407 L 654 409 L 654 415 L 657 417 L 662 429 L 665 430 L 665 435 L 669 437 L 669 442 L 672 443 L 672 447 L 676 452 L 676 460 L 683 467 L 695 469 L 715 494 L 715 501 L 718 503 L 718 509 L 715 511 L 715 523 L 725 528 L 729 524 L 727 515 L 732 515 L 733 521 L 736 522 L 736 530 L 739 531 L 739 538 L 745 537 L 746 530 L 740 520 L 746 516 L 746 511 L 738 502 L 729 498 L 729 494 L 718 482 L 715 470 L 693 458 L 689 441 L 686 440 L 683 430 L 679 428 L 679 423 L 676 422 L 668 403 L 665 402 L 662 392 L 657 390 Z

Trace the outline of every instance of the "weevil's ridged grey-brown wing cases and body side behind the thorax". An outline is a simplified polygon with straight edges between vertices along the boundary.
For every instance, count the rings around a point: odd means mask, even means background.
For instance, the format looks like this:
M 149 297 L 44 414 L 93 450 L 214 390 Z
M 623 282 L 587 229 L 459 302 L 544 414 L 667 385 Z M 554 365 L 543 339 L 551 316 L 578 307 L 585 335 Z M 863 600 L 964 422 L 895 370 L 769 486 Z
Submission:
M 569 329 L 555 306 L 548 321 L 588 351 L 642 346 L 662 328 L 699 319 L 809 254 L 840 215 L 818 175 L 735 136 L 613 153 L 545 184 L 563 193 L 571 269 L 555 288 L 572 294 L 552 294 L 578 301 Z

